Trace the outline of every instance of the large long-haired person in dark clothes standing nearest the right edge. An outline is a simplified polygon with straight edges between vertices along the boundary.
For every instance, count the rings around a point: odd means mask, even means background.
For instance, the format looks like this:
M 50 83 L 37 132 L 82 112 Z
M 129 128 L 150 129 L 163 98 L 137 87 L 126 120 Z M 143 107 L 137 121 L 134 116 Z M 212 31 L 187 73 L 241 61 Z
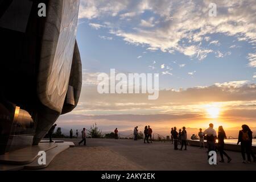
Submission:
M 249 126 L 242 125 L 242 130 L 238 134 L 238 142 L 241 142 L 241 153 L 243 163 L 246 163 L 245 153 L 247 154 L 247 163 L 251 163 L 251 144 L 253 142 L 253 132 L 251 132 Z

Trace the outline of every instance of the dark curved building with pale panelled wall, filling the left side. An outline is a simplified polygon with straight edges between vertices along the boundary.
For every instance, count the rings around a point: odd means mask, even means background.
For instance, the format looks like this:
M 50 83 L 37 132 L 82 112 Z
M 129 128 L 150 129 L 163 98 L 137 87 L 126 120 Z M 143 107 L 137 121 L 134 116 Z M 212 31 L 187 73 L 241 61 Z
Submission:
M 38 16 L 39 3 L 46 17 Z M 0 0 L 0 154 L 37 145 L 82 85 L 79 1 Z

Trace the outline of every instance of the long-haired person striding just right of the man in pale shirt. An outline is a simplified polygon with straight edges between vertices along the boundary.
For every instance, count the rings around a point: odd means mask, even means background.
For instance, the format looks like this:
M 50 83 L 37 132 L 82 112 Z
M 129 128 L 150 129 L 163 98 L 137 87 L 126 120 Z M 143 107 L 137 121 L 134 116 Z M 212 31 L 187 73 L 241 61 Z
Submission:
M 228 154 L 224 151 L 224 139 L 226 139 L 226 133 L 222 126 L 218 127 L 218 151 L 220 152 L 221 160 L 220 163 L 224 163 L 223 155 L 225 155 L 228 158 L 228 163 L 232 160 Z

